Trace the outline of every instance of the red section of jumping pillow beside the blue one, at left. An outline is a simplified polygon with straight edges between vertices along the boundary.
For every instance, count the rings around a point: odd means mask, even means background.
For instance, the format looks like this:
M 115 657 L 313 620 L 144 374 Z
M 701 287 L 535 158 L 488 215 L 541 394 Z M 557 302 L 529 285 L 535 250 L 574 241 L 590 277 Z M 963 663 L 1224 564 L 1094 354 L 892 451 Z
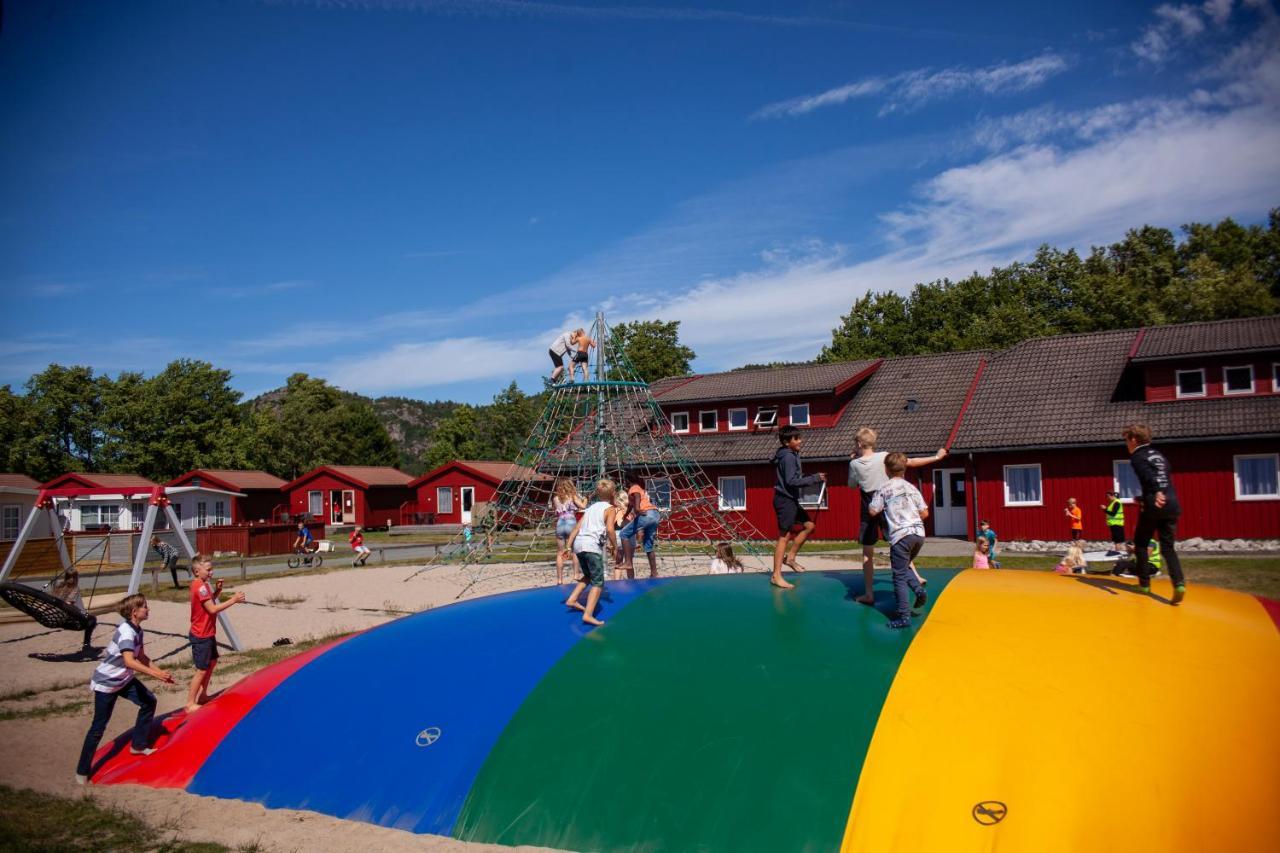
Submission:
M 308 662 L 347 639 L 349 638 L 344 637 L 259 670 L 215 695 L 209 704 L 189 717 L 182 710 L 166 713 L 155 721 L 155 738 L 151 744 L 155 753 L 150 756 L 132 754 L 129 733 L 120 735 L 110 745 L 99 749 L 93 757 L 93 784 L 186 788 L 223 738 L 262 697 Z M 214 678 L 218 678 L 218 670 L 214 670 Z M 132 708 L 128 702 L 119 702 L 115 712 L 129 713 Z

